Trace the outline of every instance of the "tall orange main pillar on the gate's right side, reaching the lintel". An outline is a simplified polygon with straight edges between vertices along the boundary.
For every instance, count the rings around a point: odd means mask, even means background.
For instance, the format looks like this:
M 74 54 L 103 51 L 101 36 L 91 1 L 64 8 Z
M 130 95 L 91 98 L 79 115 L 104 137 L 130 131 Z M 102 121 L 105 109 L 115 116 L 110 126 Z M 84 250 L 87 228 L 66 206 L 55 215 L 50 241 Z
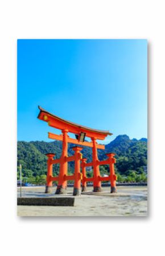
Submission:
M 93 148 L 92 148 L 92 158 L 93 158 L 93 192 L 101 192 L 101 181 L 100 169 L 98 165 L 98 156 L 97 156 L 97 147 L 96 147 L 96 138 L 92 138 Z

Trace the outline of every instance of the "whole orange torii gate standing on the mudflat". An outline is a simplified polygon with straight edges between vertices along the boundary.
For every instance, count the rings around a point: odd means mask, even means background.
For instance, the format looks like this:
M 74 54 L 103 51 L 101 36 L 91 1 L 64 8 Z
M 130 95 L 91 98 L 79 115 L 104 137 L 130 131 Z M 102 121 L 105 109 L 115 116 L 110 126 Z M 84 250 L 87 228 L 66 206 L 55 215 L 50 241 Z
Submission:
M 114 153 L 108 153 L 107 160 L 99 161 L 97 156 L 97 149 L 105 149 L 105 145 L 97 144 L 96 140 L 104 140 L 106 136 L 112 135 L 109 131 L 100 131 L 97 129 L 92 129 L 89 127 L 84 127 L 83 125 L 75 124 L 70 121 L 61 119 L 58 116 L 52 115 L 52 113 L 47 112 L 39 106 L 40 112 L 38 118 L 40 120 L 46 121 L 48 125 L 53 128 L 60 129 L 62 134 L 55 135 L 48 132 L 48 137 L 53 140 L 63 141 L 63 151 L 60 159 L 53 159 L 55 153 L 46 154 L 47 160 L 47 185 L 46 193 L 51 193 L 52 181 L 58 181 L 56 194 L 66 193 L 67 180 L 74 180 L 73 196 L 78 196 L 81 194 L 81 180 L 82 180 L 82 191 L 86 191 L 86 182 L 93 182 L 93 192 L 101 192 L 101 181 L 110 181 L 111 193 L 116 192 L 116 174 L 114 173 Z M 68 132 L 75 133 L 76 139 L 72 139 L 68 136 Z M 86 137 L 90 137 L 91 142 L 84 141 Z M 82 158 L 80 151 L 82 147 L 73 147 L 75 155 L 68 157 L 68 143 L 73 143 L 77 145 L 83 145 L 92 148 L 92 162 L 86 163 L 86 159 Z M 68 176 L 68 162 L 75 161 L 75 173 L 72 176 Z M 60 164 L 60 172 L 58 177 L 53 177 L 52 165 Z M 99 165 L 108 164 L 110 168 L 110 175 L 108 177 L 101 177 Z M 93 166 L 93 177 L 86 177 L 86 166 Z M 82 174 L 80 172 L 80 167 L 82 168 Z M 83 176 L 83 177 L 82 177 Z

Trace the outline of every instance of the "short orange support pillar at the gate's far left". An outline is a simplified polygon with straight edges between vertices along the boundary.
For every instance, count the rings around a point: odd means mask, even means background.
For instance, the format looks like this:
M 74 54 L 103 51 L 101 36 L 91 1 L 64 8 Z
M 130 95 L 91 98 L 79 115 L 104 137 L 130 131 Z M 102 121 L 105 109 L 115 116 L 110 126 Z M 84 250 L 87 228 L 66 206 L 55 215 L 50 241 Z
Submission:
M 51 193 L 52 192 L 52 180 L 51 177 L 53 176 L 53 164 L 52 164 L 52 160 L 53 157 L 55 156 L 55 154 L 53 153 L 48 153 L 46 154 L 46 156 L 48 157 L 47 160 L 47 184 L 46 184 L 46 192 L 45 193 Z

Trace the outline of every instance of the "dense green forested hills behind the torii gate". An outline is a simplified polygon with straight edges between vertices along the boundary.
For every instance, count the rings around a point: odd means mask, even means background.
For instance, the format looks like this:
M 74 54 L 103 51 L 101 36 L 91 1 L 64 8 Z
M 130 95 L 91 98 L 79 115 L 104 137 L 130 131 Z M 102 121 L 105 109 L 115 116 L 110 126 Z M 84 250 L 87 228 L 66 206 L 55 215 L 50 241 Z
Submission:
M 69 144 L 68 156 L 73 155 L 73 144 Z M 55 158 L 61 155 L 61 141 L 18 141 L 18 179 L 19 164 L 22 164 L 23 180 L 33 184 L 44 184 L 47 174 L 46 153 L 55 153 Z M 147 166 L 147 139 L 130 140 L 127 135 L 119 135 L 108 145 L 105 145 L 105 151 L 98 150 L 99 160 L 106 159 L 105 153 L 116 153 L 117 163 L 115 165 L 118 181 L 140 182 L 147 181 L 144 167 Z M 85 147 L 82 151 L 83 157 L 92 160 L 92 149 Z M 74 162 L 69 162 L 68 173 L 73 173 Z M 59 173 L 59 165 L 53 165 L 53 174 Z M 100 166 L 101 176 L 109 174 L 109 166 Z M 91 177 L 92 171 L 87 173 Z

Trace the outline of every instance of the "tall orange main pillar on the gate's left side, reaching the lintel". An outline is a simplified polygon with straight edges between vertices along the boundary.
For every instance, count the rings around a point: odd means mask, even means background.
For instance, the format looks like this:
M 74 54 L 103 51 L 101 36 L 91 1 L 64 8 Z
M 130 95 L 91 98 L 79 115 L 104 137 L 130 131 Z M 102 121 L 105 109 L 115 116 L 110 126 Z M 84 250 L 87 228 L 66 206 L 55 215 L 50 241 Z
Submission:
M 56 189 L 56 194 L 65 194 L 67 192 L 67 180 L 64 179 L 64 175 L 68 174 L 68 130 L 64 129 L 63 132 L 63 151 L 60 158 L 60 173 L 59 182 Z

